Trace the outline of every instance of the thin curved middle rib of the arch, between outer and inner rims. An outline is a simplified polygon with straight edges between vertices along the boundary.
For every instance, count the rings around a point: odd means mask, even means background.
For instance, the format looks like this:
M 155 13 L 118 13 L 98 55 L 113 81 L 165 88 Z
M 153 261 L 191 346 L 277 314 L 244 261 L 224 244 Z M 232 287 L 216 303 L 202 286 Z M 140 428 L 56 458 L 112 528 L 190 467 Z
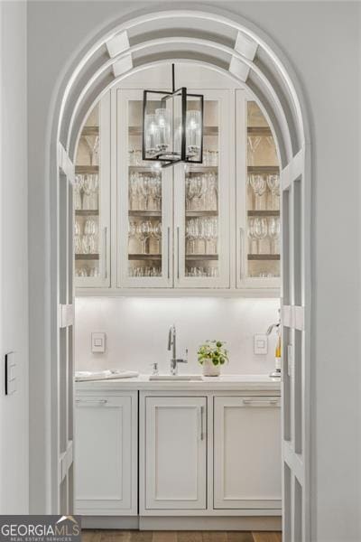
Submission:
M 103 66 L 97 70 L 97 72 L 93 75 L 93 77 L 88 79 L 87 85 L 84 87 L 84 89 L 82 89 L 82 91 L 79 94 L 79 98 L 76 102 L 75 107 L 73 108 L 73 113 L 70 118 L 69 132 L 68 132 L 68 138 L 67 138 L 67 148 L 69 148 L 70 136 L 73 130 L 75 119 L 79 112 L 79 108 L 81 107 L 82 101 L 87 95 L 88 90 L 97 82 L 97 79 L 101 76 L 101 74 L 104 73 L 105 70 L 113 66 L 118 61 L 125 60 L 126 62 L 126 60 L 129 58 L 129 55 L 131 55 L 134 52 L 143 51 L 143 50 L 150 51 L 153 47 L 158 47 L 158 46 L 163 47 L 164 51 L 167 51 L 171 43 L 175 45 L 186 43 L 186 44 L 189 44 L 190 46 L 199 46 L 200 48 L 204 48 L 205 51 L 216 50 L 216 51 L 226 52 L 230 57 L 230 61 L 232 60 L 232 58 L 236 58 L 238 61 L 244 63 L 250 70 L 255 71 L 255 74 L 258 76 L 258 78 L 263 81 L 264 88 L 267 90 L 269 98 L 273 100 L 273 104 L 278 112 L 278 117 L 281 120 L 280 128 L 282 131 L 282 138 L 283 138 L 287 158 L 289 160 L 292 158 L 292 143 L 291 143 L 290 133 L 288 130 L 287 119 L 284 114 L 280 99 L 278 98 L 276 92 L 274 91 L 273 86 L 271 85 L 270 81 L 264 76 L 263 71 L 260 70 L 253 61 L 250 61 L 245 56 L 245 54 L 239 53 L 235 51 L 234 49 L 227 47 L 227 45 L 223 45 L 219 42 L 210 42 L 208 40 L 203 40 L 199 38 L 189 38 L 185 36 L 160 38 L 157 40 L 150 40 L 148 42 L 138 43 L 137 45 L 134 45 L 133 47 L 130 47 L 129 49 L 127 49 L 125 52 L 119 53 L 115 57 L 106 61 L 103 64 Z M 126 75 L 129 75 L 128 70 L 126 70 L 125 73 Z M 236 74 L 234 75 L 235 75 L 235 78 L 239 82 L 245 82 L 244 79 L 242 79 L 241 77 L 238 77 Z

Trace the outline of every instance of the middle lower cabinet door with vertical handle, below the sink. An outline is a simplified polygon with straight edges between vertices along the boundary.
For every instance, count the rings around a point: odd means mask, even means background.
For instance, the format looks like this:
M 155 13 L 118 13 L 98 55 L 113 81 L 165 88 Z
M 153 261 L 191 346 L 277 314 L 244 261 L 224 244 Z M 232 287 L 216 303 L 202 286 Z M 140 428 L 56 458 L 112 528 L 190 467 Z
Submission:
M 206 509 L 206 397 L 146 397 L 145 509 Z

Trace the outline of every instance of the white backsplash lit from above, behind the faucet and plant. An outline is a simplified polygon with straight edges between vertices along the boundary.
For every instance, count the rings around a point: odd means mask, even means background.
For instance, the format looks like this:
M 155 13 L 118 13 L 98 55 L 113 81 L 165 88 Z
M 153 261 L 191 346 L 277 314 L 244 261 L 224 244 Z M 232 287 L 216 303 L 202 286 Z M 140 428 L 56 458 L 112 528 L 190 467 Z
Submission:
M 79 297 L 75 304 L 77 370 L 126 369 L 152 372 L 157 361 L 169 372 L 168 330 L 177 328 L 177 356 L 189 349 L 189 364 L 179 372 L 200 372 L 199 344 L 227 341 L 225 373 L 264 374 L 274 367 L 273 334 L 267 355 L 254 354 L 254 334 L 264 333 L 278 318 L 276 299 L 100 298 Z M 106 332 L 106 352 L 91 353 L 91 332 Z

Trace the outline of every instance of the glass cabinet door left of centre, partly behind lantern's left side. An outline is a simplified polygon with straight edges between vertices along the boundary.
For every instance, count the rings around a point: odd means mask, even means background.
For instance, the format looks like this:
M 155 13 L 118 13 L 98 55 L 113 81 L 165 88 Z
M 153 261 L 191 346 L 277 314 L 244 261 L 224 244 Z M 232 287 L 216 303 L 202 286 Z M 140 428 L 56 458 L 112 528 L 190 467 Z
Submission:
M 143 91 L 117 89 L 116 102 L 118 286 L 167 287 L 172 285 L 172 168 L 142 160 Z M 160 104 L 153 106 L 155 111 Z

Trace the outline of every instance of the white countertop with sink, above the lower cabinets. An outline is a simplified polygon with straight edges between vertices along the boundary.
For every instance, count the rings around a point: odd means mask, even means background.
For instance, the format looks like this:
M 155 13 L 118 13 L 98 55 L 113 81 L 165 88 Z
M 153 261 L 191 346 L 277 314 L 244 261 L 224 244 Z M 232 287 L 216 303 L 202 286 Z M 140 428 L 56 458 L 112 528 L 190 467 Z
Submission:
M 280 391 L 280 378 L 270 378 L 268 375 L 221 375 L 220 377 L 202 377 L 201 380 L 150 380 L 150 375 L 139 375 L 136 378 L 113 378 L 108 380 L 91 380 L 76 382 L 77 390 L 205 390 L 227 391 L 262 390 Z

